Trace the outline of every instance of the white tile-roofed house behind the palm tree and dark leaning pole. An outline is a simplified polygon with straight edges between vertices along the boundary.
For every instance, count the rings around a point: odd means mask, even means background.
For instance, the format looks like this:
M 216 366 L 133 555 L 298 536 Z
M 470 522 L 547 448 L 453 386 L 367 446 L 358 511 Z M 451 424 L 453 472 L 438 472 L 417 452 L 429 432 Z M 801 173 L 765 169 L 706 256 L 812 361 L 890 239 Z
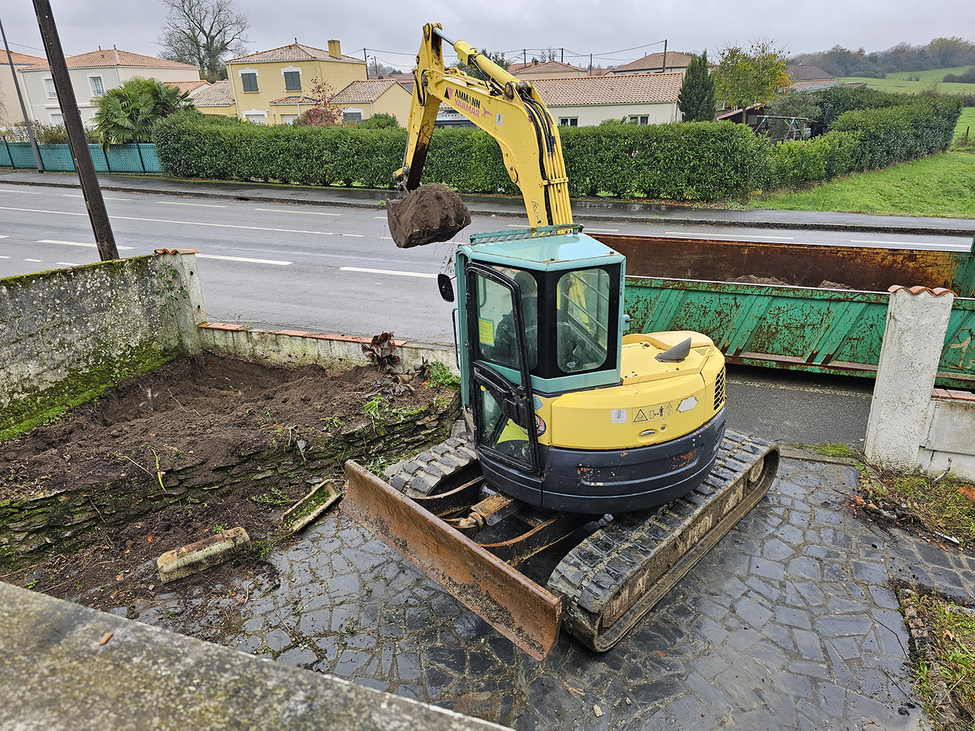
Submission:
M 98 96 L 108 89 L 122 86 L 134 76 L 178 83 L 200 80 L 200 69 L 196 66 L 117 48 L 99 48 L 98 51 L 69 56 L 64 60 L 83 122 L 95 117 L 95 99 Z M 32 65 L 21 66 L 19 73 L 20 89 L 31 118 L 41 122 L 61 122 L 58 92 L 48 61 L 41 59 Z

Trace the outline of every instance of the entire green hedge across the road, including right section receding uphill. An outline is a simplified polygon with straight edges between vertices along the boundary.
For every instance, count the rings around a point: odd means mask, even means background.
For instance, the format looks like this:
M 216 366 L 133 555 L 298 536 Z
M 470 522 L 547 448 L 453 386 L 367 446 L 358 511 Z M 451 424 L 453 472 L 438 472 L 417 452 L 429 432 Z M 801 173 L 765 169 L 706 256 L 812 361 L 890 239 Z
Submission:
M 820 104 L 832 117 L 830 132 L 775 146 L 730 122 L 561 128 L 569 195 L 733 199 L 947 149 L 960 101 L 904 102 L 904 95 L 870 89 L 826 90 Z M 391 188 L 406 135 L 403 129 L 265 127 L 180 114 L 163 120 L 154 136 L 164 170 L 179 177 Z M 434 132 L 424 170 L 424 182 L 430 181 L 459 191 L 519 193 L 497 143 L 472 129 Z

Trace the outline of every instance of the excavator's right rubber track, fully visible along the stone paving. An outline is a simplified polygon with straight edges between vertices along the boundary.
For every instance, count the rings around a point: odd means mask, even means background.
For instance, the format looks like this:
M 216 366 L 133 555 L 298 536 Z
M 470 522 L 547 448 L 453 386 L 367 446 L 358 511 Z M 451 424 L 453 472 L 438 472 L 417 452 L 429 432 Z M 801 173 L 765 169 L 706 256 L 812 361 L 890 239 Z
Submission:
M 769 452 L 775 457 L 770 467 L 777 468 L 777 447 L 726 430 L 714 470 L 696 489 L 661 508 L 614 518 L 573 548 L 548 581 L 549 591 L 566 598 L 563 629 L 597 651 L 615 644 L 761 499 L 774 472 L 751 489 L 746 477 Z M 700 526 L 709 509 L 722 515 L 706 535 Z M 638 587 L 636 599 L 602 627 L 609 602 L 628 583 Z

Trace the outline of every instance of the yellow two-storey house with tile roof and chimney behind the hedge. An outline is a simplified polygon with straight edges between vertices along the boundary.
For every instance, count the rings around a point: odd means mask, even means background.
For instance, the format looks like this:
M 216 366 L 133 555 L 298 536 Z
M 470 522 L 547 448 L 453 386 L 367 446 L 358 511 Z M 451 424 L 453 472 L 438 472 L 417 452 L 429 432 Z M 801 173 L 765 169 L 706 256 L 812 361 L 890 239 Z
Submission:
M 266 125 L 289 123 L 299 108 L 314 104 L 313 79 L 328 84 L 333 93 L 367 80 L 365 59 L 343 56 L 338 41 L 329 41 L 326 51 L 295 39 L 288 46 L 225 63 L 237 116 Z

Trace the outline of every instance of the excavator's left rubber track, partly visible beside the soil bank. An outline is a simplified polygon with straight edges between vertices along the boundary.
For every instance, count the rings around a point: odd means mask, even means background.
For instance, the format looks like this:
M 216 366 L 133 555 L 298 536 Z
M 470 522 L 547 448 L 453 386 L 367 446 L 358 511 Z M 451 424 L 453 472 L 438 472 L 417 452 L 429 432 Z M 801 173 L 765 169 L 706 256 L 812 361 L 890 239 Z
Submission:
M 480 474 L 477 462 L 470 437 L 451 437 L 390 466 L 382 479 L 407 497 L 426 497 L 442 483 L 443 489 L 448 489 L 477 477 Z

